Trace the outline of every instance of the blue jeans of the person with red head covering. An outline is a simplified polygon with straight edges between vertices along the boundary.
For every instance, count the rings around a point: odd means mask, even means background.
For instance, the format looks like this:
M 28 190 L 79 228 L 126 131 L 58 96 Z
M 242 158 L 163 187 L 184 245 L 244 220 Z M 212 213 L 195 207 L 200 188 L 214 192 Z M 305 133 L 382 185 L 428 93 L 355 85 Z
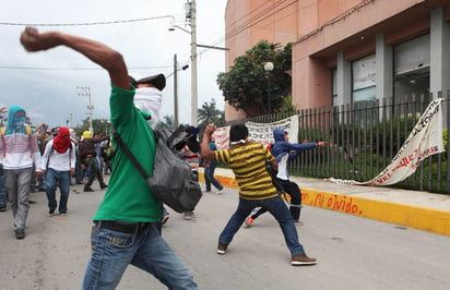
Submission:
M 46 193 L 48 200 L 48 208 L 56 209 L 56 188 L 57 182 L 59 182 L 59 191 L 61 192 L 59 198 L 59 213 L 66 214 L 68 212 L 68 200 L 70 192 L 70 171 L 59 171 L 51 168 L 47 169 L 45 177 Z

